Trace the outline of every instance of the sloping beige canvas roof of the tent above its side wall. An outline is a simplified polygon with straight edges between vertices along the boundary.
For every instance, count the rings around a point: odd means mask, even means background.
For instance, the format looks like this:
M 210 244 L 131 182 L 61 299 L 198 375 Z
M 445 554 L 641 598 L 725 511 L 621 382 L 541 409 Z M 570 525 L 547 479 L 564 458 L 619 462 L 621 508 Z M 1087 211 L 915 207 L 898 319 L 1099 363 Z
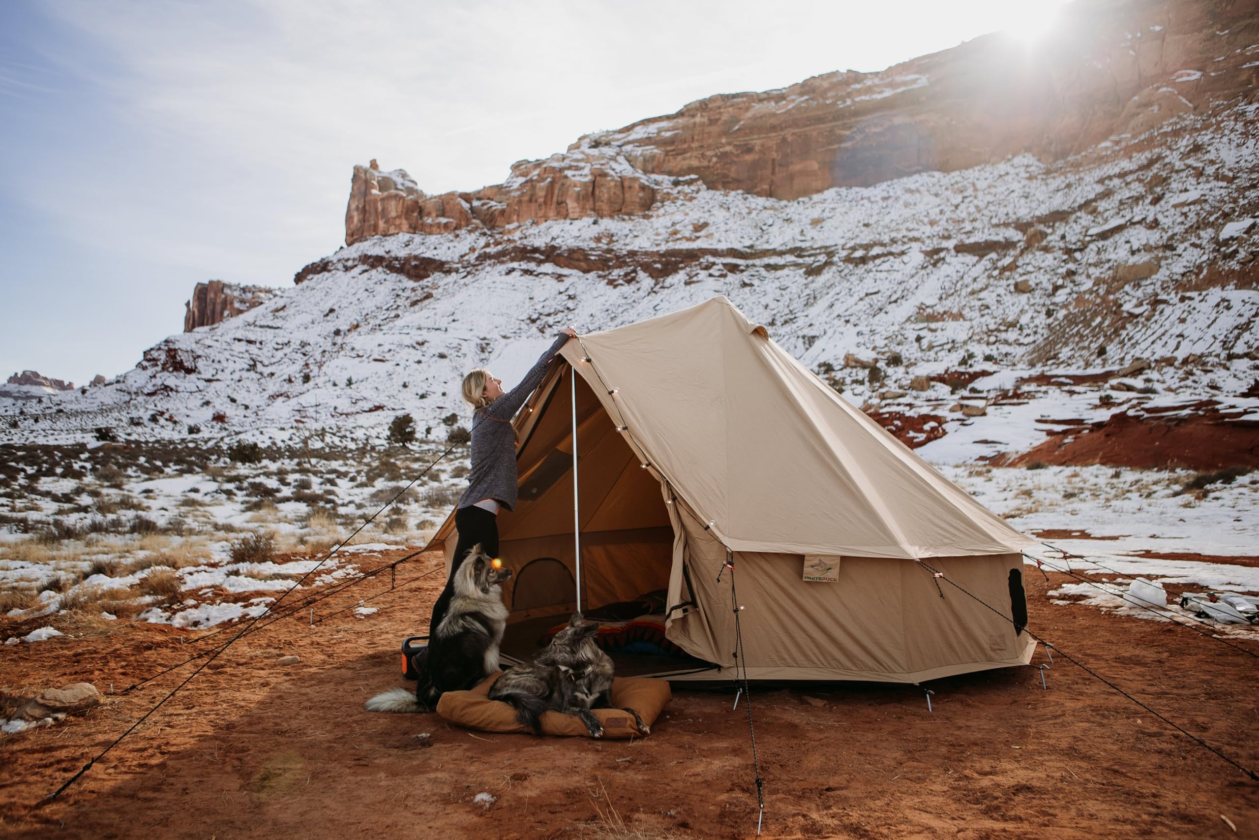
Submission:
M 733 550 L 927 558 L 1035 543 L 725 297 L 583 335 L 562 353 L 628 427 L 631 447 Z

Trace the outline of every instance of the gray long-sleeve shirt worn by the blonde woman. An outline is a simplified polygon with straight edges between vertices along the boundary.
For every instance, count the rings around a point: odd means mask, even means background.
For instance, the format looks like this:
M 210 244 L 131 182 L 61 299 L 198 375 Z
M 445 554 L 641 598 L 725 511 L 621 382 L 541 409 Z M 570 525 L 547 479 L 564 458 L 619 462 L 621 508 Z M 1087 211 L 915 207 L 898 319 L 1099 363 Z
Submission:
M 520 380 L 486 408 L 472 416 L 472 471 L 468 489 L 460 496 L 460 508 L 471 508 L 482 499 L 494 499 L 507 510 L 516 508 L 516 433 L 511 418 L 546 375 L 546 365 L 568 341 L 560 335 Z

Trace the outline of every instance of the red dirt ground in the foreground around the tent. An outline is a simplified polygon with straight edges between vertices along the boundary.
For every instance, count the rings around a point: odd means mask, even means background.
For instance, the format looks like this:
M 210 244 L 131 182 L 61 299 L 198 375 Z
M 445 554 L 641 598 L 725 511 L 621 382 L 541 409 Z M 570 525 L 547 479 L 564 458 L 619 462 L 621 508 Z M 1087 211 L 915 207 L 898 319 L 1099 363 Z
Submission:
M 426 555 L 398 581 L 434 568 Z M 409 568 L 408 568 L 409 567 Z M 1065 581 L 1065 578 L 1063 578 Z M 1255 660 L 1178 626 L 1054 606 L 1029 574 L 1030 626 L 1248 767 L 1259 766 Z M 246 636 L 52 803 L 54 791 L 176 683 L 0 741 L 11 837 L 750 837 L 748 719 L 729 688 L 677 688 L 650 738 L 536 739 L 370 714 L 400 685 L 439 576 L 308 626 Z M 388 587 L 364 583 L 316 618 Z M 964 597 L 947 592 L 947 597 Z M 754 608 L 754 604 L 749 604 Z M 0 632 L 18 626 L 0 618 Z M 5 689 L 130 685 L 185 657 L 180 631 L 82 620 L 74 637 L 4 647 Z M 186 632 L 186 631 L 183 631 Z M 223 636 L 219 636 L 222 639 Z M 1259 649 L 1256 642 L 1240 642 Z M 195 650 L 195 649 L 193 649 Z M 274 665 L 297 654 L 301 662 Z M 1044 662 L 1037 652 L 1034 662 Z M 913 686 L 758 688 L 765 837 L 1256 837 L 1259 782 L 1058 657 Z M 413 737 L 432 733 L 432 746 Z M 606 788 L 608 801 L 602 798 Z M 478 792 L 496 798 L 473 805 Z M 599 798 L 594 798 L 599 797 Z M 604 832 L 612 805 L 637 835 Z M 1221 820 L 1229 817 L 1234 834 Z

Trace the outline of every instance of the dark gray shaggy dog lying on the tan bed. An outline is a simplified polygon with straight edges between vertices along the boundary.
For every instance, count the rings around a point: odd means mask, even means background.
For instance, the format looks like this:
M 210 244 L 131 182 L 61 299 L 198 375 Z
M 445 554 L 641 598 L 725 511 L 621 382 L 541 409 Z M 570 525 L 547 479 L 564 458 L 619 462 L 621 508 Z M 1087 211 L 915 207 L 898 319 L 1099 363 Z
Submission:
M 597 622 L 574 612 L 550 645 L 534 655 L 533 665 L 512 667 L 490 686 L 490 698 L 516 707 L 516 720 L 534 734 L 543 734 L 543 712 L 560 712 L 580 718 L 592 738 L 602 737 L 603 724 L 590 709 L 613 708 L 614 669 L 612 657 L 594 642 L 598 630 Z M 638 732 L 650 734 L 637 712 L 624 712 L 633 715 Z

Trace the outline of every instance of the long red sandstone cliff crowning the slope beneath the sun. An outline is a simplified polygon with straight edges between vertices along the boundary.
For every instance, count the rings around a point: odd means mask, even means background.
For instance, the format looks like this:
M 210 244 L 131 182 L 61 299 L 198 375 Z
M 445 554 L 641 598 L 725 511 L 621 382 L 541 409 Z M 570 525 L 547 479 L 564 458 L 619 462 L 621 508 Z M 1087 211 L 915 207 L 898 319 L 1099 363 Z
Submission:
M 475 193 L 426 195 L 371 161 L 354 167 L 345 241 L 640 214 L 677 179 L 793 199 L 1024 152 L 1060 160 L 1253 88 L 1256 11 L 1259 0 L 1074 3 L 1034 47 L 997 33 L 880 73 L 713 96 L 514 164 Z M 1180 93 L 1161 83 L 1172 78 Z

